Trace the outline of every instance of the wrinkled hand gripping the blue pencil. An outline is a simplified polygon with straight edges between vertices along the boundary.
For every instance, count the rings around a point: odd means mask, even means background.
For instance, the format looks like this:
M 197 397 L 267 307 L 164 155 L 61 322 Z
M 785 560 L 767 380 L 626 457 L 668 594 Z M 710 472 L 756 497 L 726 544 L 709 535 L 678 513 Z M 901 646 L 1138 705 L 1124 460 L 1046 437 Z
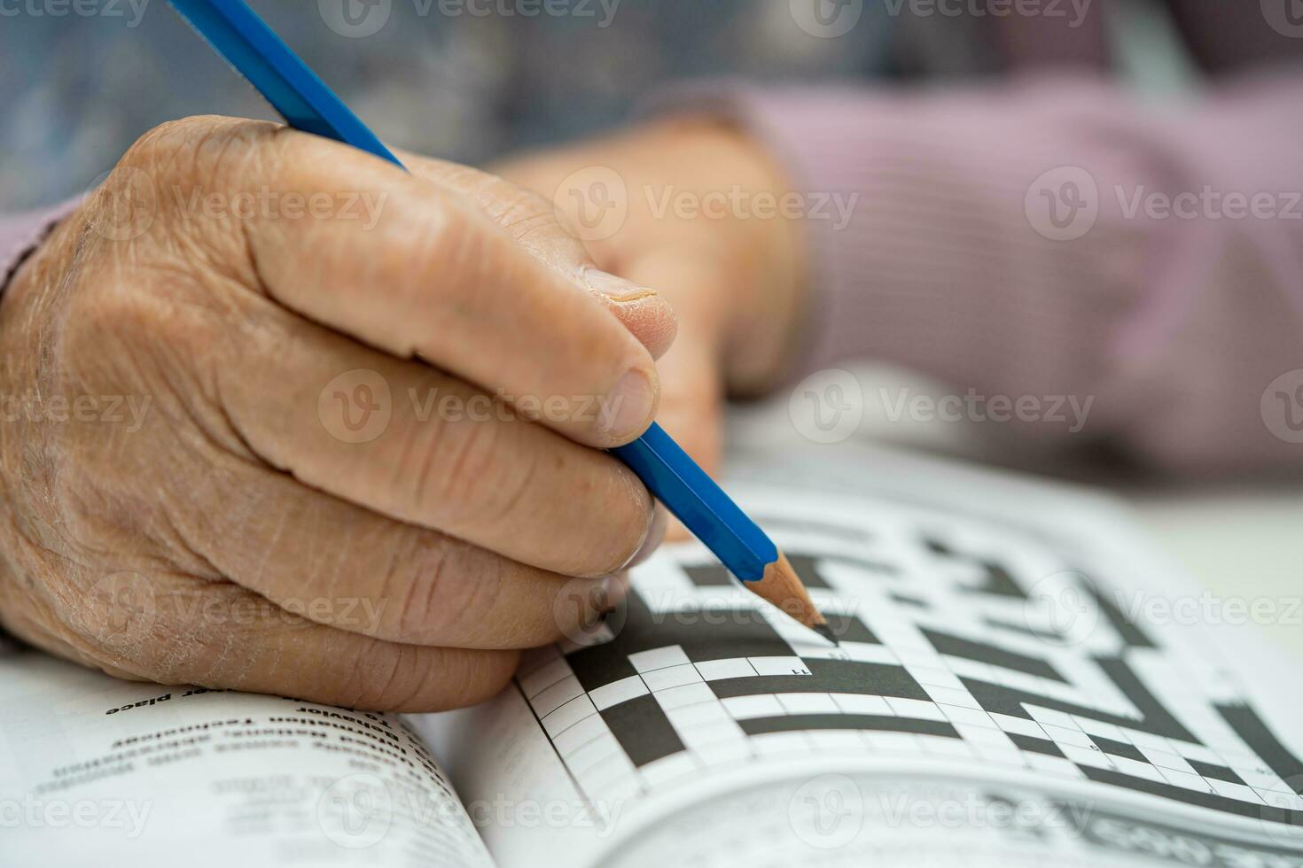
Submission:
M 658 541 L 674 337 L 550 203 L 270 124 L 143 137 L 0 308 L 0 621 L 126 678 L 483 699 Z M 13 400 L 17 396 L 18 400 Z

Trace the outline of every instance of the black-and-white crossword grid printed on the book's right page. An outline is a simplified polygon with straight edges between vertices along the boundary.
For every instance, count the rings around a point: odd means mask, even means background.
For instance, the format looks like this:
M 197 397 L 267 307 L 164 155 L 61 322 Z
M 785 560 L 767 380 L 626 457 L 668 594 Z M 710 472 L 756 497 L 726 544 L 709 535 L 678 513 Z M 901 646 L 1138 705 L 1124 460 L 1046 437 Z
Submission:
M 784 524 L 799 531 L 778 541 L 837 613 L 840 648 L 734 587 L 704 549 L 654 561 L 609 644 L 534 652 L 517 677 L 588 798 L 835 751 L 962 757 L 1240 816 L 1303 817 L 1303 765 L 1244 705 L 1182 690 L 1160 700 L 1131 658 L 1154 683 L 1186 685 L 1188 673 L 1105 600 L 1101 627 L 1080 647 L 1036 623 L 1015 575 L 1046 563 L 1012 549 L 1003 561 L 960 554 L 971 534 L 885 517 L 766 524 L 779 537 Z

